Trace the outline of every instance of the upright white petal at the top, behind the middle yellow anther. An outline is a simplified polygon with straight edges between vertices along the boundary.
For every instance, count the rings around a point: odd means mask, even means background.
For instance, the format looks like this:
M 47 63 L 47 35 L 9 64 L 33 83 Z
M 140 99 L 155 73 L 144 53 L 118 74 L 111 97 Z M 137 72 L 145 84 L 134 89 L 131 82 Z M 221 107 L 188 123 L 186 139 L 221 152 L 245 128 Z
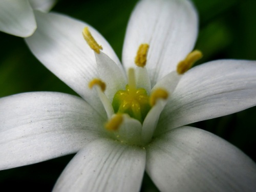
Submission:
M 198 18 L 186 0 L 142 0 L 135 7 L 123 45 L 125 68 L 134 67 L 140 44 L 149 44 L 146 68 L 152 86 L 176 69 L 180 60 L 193 49 Z

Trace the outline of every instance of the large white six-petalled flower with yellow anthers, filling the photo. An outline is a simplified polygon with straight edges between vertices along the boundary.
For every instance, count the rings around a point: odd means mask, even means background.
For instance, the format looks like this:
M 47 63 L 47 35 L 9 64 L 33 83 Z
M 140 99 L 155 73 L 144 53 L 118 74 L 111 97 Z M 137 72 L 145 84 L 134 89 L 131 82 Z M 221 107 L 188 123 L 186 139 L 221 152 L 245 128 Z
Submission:
M 128 79 L 93 27 L 56 13 L 35 16 L 38 29 L 26 39 L 28 46 L 82 98 L 55 92 L 1 98 L 1 169 L 78 152 L 54 190 L 138 191 L 144 170 L 161 191 L 255 190 L 256 165 L 250 158 L 218 136 L 184 126 L 256 104 L 255 61 L 216 60 L 177 73 L 197 36 L 197 14 L 190 2 L 137 4 L 122 56 Z M 87 28 L 84 36 L 98 53 L 83 40 L 86 26 L 102 51 Z M 141 44 L 150 47 L 137 53 Z M 146 58 L 144 68 L 135 66 L 136 55 Z M 191 64 L 188 58 L 185 62 Z M 142 96 L 154 101 L 144 120 L 134 115 L 139 111 L 134 98 L 129 115 L 113 114 L 114 95 L 127 83 L 144 88 Z

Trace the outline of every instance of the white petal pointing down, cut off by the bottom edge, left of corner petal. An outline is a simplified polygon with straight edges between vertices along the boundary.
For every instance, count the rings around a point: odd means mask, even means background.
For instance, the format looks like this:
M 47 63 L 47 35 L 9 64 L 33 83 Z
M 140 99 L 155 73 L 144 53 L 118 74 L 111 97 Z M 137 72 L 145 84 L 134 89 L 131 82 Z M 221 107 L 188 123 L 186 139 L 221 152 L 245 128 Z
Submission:
M 96 140 L 68 164 L 54 191 L 139 191 L 145 151 L 113 140 Z

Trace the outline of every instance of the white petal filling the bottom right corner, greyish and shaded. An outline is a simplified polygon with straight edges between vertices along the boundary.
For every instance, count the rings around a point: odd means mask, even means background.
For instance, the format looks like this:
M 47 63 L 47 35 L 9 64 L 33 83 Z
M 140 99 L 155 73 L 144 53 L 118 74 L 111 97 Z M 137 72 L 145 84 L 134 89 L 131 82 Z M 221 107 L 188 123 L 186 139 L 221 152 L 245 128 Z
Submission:
M 255 191 L 256 164 L 209 132 L 180 127 L 146 149 L 146 171 L 161 191 Z

